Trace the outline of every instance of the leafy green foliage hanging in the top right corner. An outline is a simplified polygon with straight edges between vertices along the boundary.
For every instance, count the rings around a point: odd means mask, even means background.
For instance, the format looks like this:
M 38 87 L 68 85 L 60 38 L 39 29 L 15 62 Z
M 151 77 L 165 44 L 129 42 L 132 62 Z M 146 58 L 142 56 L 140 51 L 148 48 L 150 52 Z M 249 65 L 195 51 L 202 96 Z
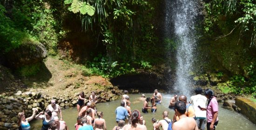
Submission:
M 212 34 L 215 25 L 221 21 L 220 17 L 224 16 L 226 21 L 232 21 L 227 22 L 232 30 L 236 27 L 241 30 L 241 37 L 245 32 L 249 32 L 250 46 L 256 46 L 256 3 L 254 0 L 209 0 L 205 4 L 205 10 L 207 12 L 204 21 L 206 33 Z

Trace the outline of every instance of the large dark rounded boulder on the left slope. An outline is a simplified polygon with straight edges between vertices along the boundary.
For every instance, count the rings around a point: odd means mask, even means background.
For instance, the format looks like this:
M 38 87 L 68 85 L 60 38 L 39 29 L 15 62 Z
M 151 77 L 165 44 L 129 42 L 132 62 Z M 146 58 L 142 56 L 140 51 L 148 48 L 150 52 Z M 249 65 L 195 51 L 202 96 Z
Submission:
M 18 68 L 24 65 L 39 63 L 46 57 L 47 50 L 44 45 L 28 41 L 21 44 L 19 48 L 8 52 L 7 63 L 14 68 Z

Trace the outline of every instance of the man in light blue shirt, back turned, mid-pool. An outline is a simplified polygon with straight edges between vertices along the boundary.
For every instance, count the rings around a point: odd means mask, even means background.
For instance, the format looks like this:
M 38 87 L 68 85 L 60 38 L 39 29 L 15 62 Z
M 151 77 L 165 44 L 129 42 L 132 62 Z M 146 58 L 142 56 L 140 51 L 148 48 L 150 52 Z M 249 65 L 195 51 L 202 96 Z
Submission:
M 125 121 L 126 117 L 128 117 L 128 112 L 127 110 L 124 108 L 125 103 L 121 102 L 121 106 L 117 107 L 115 110 L 115 114 L 116 114 L 116 123 L 119 122 L 119 120 L 123 120 Z

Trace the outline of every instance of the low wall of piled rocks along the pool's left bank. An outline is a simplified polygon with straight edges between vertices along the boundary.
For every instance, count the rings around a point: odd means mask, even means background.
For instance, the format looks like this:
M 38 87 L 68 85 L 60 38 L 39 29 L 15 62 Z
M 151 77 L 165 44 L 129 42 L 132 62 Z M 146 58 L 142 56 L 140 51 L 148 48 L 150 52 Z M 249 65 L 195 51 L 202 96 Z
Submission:
M 121 95 L 122 91 L 117 87 L 110 87 L 110 90 L 97 90 L 96 95 L 98 102 L 108 102 L 115 100 Z M 13 93 L 13 91 L 0 93 L 0 130 L 17 130 L 18 113 L 25 111 L 26 117 L 30 117 L 33 113 L 32 108 L 40 111 L 46 109 L 51 99 L 56 99 L 57 104 L 61 108 L 76 107 L 78 94 L 67 95 L 66 97 L 48 97 L 41 92 L 21 92 Z M 88 102 L 89 96 L 86 96 Z M 37 113 L 38 114 L 38 113 Z

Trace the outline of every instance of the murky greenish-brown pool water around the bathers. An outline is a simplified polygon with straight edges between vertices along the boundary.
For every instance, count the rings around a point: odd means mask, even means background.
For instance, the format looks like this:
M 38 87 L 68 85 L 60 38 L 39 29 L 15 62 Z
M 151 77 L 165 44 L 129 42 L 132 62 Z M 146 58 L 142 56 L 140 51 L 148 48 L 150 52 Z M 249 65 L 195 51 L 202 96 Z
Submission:
M 153 93 L 152 93 L 153 94 Z M 151 97 L 152 94 L 145 94 L 146 97 Z M 143 102 L 138 100 L 138 97 L 141 97 L 141 94 L 129 94 L 131 101 L 132 110 L 140 110 L 142 108 Z M 169 111 L 169 118 L 173 118 L 174 111 L 168 109 L 169 100 L 171 98 L 170 94 L 163 94 L 162 104 L 157 104 L 156 113 L 144 114 L 141 113 L 146 121 L 146 126 L 148 130 L 153 130 L 151 123 L 151 118 L 155 117 L 156 119 L 162 119 L 163 110 Z M 112 102 L 99 103 L 96 105 L 98 111 L 103 111 L 103 118 L 106 120 L 107 129 L 112 130 L 117 123 L 115 123 L 115 109 L 120 106 L 120 100 L 115 100 Z M 220 106 L 220 105 L 219 105 Z M 78 111 L 76 108 L 64 109 L 62 110 L 63 119 L 67 123 L 69 130 L 74 130 L 74 123 L 76 123 L 76 117 Z M 40 130 L 42 126 L 42 120 L 34 120 L 31 122 L 31 130 Z M 250 122 L 247 117 L 243 116 L 234 111 L 229 111 L 219 107 L 219 123 L 217 125 L 217 130 L 256 130 L 256 125 Z

